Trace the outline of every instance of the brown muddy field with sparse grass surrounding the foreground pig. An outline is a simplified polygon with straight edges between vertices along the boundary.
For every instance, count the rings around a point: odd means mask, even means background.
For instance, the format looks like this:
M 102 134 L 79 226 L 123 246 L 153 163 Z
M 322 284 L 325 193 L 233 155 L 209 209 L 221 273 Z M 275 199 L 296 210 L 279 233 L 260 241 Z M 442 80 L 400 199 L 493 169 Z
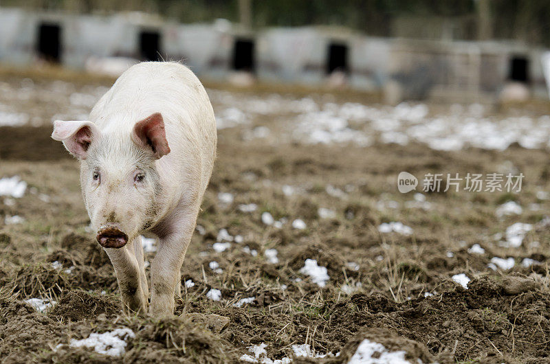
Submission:
M 3 363 L 347 363 L 364 340 L 404 351 L 410 363 L 550 363 L 546 146 L 510 139 L 505 150 L 474 142 L 437 150 L 410 134 L 406 143 L 399 135 L 400 144 L 383 141 L 383 130 L 369 136 L 371 124 L 359 123 L 349 130 L 362 134 L 340 128 L 351 138 L 313 144 L 308 138 L 319 133 L 293 124 L 300 120 L 293 107 L 311 115 L 305 104 L 338 105 L 347 96 L 316 94 L 309 102 L 209 89 L 221 124 L 219 157 L 182 268 L 185 294 L 176 317 L 158 321 L 123 314 L 113 268 L 87 229 L 78 162 L 49 139 L 53 117 L 85 115 L 109 83 L 59 82 L 18 75 L 0 82 L 0 120 L 14 125 L 0 128 L 0 179 L 28 183 L 21 198 L 0 196 Z M 429 109 L 421 118 L 448 106 Z M 544 122 L 527 106 L 484 112 Z M 401 171 L 419 178 L 417 192 L 428 173 L 521 172 L 525 179 L 519 193 L 401 194 Z M 412 231 L 382 225 L 391 222 Z M 515 223 L 529 225 L 514 235 Z M 398 232 L 382 232 L 388 226 Z M 326 267 L 328 279 L 304 274 L 307 259 Z M 452 279 L 461 273 L 467 289 Z M 32 298 L 56 304 L 39 312 L 25 302 Z M 122 359 L 70 345 L 118 328 L 135 334 Z M 386 363 L 384 355 L 367 363 Z

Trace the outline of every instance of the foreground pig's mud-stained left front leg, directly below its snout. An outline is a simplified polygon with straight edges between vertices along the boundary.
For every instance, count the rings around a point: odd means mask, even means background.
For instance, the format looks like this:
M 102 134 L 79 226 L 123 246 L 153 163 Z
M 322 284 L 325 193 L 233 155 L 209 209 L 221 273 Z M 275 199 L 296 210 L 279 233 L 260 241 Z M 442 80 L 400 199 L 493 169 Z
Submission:
M 137 262 L 133 244 L 141 244 L 140 238 L 118 249 L 105 248 L 113 264 L 116 280 L 122 295 L 122 303 L 134 312 L 147 312 L 147 299 L 142 281 L 142 269 Z M 143 255 L 142 255 L 143 260 Z M 144 273 L 143 273 L 144 275 Z M 145 282 L 145 285 L 147 282 Z

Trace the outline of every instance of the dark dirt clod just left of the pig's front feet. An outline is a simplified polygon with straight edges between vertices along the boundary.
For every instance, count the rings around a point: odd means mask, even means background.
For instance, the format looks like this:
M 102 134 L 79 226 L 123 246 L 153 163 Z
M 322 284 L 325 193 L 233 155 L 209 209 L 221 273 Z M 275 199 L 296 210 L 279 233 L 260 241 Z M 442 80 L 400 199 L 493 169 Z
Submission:
M 58 304 L 50 311 L 50 316 L 72 321 L 93 319 L 104 314 L 113 317 L 121 311 L 118 299 L 93 296 L 84 291 L 67 291 Z

